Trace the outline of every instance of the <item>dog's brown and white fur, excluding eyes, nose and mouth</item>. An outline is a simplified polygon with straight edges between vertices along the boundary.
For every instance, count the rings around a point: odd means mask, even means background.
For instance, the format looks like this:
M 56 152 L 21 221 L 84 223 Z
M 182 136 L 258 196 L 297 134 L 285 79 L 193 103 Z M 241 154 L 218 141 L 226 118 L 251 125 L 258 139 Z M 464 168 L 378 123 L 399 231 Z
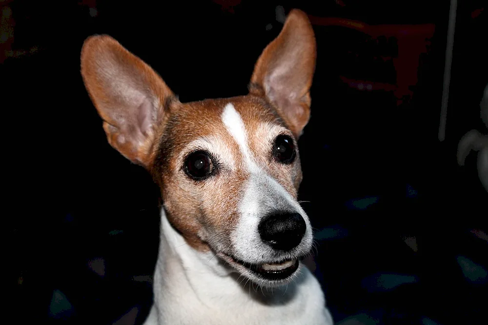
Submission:
M 258 59 L 248 95 L 182 103 L 111 37 L 84 42 L 81 75 L 108 142 L 161 188 L 154 304 L 145 324 L 332 324 L 318 281 L 296 262 L 312 247 L 297 201 L 298 151 L 291 163 L 273 156 L 278 136 L 296 148 L 308 122 L 315 60 L 310 22 L 292 10 Z M 196 150 L 212 157 L 213 173 L 201 181 L 184 167 Z M 274 212 L 303 218 L 296 246 L 274 249 L 260 237 L 258 225 Z M 278 280 L 246 266 L 295 262 L 298 269 Z

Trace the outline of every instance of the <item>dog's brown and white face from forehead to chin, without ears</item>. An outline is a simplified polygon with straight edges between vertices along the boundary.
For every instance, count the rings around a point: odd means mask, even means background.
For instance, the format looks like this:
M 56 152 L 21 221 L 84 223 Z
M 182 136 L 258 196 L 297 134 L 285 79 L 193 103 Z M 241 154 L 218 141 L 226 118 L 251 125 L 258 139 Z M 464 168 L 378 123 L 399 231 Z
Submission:
M 312 241 L 295 136 L 259 97 L 174 105 L 153 167 L 171 223 L 256 282 L 288 278 Z

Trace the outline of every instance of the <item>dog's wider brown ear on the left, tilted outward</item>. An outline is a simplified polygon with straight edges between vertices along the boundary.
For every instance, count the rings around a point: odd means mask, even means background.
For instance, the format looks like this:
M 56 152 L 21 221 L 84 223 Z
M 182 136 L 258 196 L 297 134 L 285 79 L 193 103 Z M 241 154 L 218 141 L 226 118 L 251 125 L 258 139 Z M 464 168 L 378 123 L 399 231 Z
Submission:
M 110 145 L 149 168 L 171 90 L 149 65 L 107 35 L 83 43 L 81 76 Z

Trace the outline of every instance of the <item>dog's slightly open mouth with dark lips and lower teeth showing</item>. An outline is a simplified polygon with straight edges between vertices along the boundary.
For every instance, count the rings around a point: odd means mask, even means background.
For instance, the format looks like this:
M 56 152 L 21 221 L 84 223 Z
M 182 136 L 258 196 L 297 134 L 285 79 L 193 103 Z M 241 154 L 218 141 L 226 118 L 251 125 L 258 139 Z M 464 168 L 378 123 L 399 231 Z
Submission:
M 273 263 L 251 264 L 233 256 L 219 253 L 220 257 L 238 270 L 244 268 L 257 277 L 268 281 L 285 281 L 290 278 L 300 265 L 298 259 L 287 259 Z

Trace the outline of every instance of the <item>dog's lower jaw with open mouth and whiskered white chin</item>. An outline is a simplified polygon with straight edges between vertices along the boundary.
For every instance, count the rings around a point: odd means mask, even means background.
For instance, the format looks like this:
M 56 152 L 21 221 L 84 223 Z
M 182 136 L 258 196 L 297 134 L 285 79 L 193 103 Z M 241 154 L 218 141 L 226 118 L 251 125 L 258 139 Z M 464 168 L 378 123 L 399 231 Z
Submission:
M 289 283 L 299 272 L 300 258 L 276 261 L 273 263 L 251 264 L 231 255 L 217 254 L 240 275 L 260 286 L 279 286 Z

